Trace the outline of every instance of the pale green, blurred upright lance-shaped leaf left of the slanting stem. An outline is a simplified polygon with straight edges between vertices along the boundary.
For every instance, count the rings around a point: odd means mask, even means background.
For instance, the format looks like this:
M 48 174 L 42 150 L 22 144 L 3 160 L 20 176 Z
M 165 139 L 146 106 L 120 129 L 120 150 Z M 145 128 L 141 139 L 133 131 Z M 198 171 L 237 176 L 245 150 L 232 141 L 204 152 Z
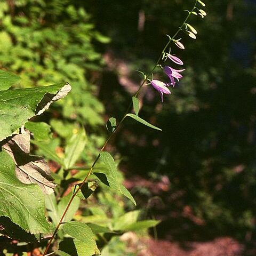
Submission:
M 73 166 L 82 151 L 84 150 L 86 143 L 86 136 L 84 129 L 80 129 L 77 133 L 73 134 L 71 138 L 67 142 L 67 146 L 65 148 L 65 159 L 64 165 L 65 169 L 69 169 Z

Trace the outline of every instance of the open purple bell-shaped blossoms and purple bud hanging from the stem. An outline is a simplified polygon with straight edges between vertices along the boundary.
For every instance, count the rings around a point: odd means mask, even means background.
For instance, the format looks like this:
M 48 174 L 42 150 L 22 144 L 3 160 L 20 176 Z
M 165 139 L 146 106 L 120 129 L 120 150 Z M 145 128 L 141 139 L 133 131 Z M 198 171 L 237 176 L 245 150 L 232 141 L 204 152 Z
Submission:
M 174 63 L 177 63 L 178 65 L 183 65 L 183 61 L 179 59 L 178 57 L 168 53 L 167 57 L 172 60 Z M 182 75 L 180 72 L 184 71 L 185 69 L 174 69 L 170 66 L 165 66 L 164 67 L 164 73 L 170 78 L 170 82 L 164 83 L 159 80 L 152 80 L 151 85 L 160 93 L 161 100 L 163 102 L 164 100 L 164 93 L 165 94 L 171 94 L 170 90 L 167 88 L 167 86 L 172 85 L 173 87 L 175 86 L 175 79 L 179 81 L 180 78 L 182 78 Z

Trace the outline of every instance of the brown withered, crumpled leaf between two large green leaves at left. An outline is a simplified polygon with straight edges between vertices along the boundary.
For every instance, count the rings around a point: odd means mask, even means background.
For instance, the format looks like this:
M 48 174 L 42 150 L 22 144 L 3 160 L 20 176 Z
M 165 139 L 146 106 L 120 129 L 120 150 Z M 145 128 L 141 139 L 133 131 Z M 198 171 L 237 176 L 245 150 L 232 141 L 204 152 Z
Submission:
M 49 166 L 44 158 L 29 155 L 30 134 L 23 130 L 14 135 L 2 148 L 13 158 L 17 178 L 26 184 L 35 183 L 45 194 L 53 193 L 53 183 Z

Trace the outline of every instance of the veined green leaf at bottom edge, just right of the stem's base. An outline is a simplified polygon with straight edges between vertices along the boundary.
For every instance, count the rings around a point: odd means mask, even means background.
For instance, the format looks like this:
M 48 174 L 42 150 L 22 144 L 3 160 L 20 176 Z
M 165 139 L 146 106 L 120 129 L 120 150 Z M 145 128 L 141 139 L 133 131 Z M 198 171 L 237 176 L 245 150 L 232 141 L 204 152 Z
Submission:
M 63 231 L 74 238 L 78 256 L 91 256 L 100 253 L 92 230 L 83 222 L 71 221 L 65 223 Z

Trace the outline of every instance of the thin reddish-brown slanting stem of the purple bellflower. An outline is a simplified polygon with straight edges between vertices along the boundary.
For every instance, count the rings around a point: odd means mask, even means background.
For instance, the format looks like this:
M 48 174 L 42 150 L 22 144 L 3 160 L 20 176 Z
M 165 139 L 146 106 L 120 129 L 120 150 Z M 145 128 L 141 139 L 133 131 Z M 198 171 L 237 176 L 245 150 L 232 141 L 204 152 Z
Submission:
M 185 23 L 187 22 L 188 18 L 190 17 L 191 12 L 194 11 L 197 2 L 198 2 L 198 0 L 196 0 L 195 4 L 194 4 L 194 6 L 193 6 L 193 9 L 192 9 L 190 12 L 188 12 L 188 15 L 187 15 L 186 19 L 183 21 L 182 25 L 179 27 L 179 29 L 177 30 L 177 32 L 176 32 L 172 37 L 169 38 L 169 41 L 168 41 L 168 42 L 166 43 L 166 45 L 164 46 L 163 51 L 162 51 L 162 53 L 160 54 L 160 56 L 159 56 L 159 58 L 158 58 L 158 60 L 157 60 L 157 62 L 156 62 L 156 64 L 155 64 L 155 66 L 151 69 L 149 75 L 146 75 L 146 76 L 145 76 L 145 78 L 143 79 L 142 83 L 141 83 L 140 86 L 139 86 L 138 91 L 134 94 L 134 97 L 137 97 L 137 95 L 139 94 L 139 92 L 140 92 L 142 86 L 146 83 L 146 81 L 147 81 L 148 77 L 150 76 L 150 74 L 153 73 L 153 71 L 156 69 L 157 65 L 158 65 L 159 62 L 161 61 L 161 59 L 162 59 L 162 57 L 163 57 L 163 54 L 164 54 L 165 50 L 167 49 L 167 47 L 168 47 L 168 46 L 170 45 L 170 43 L 173 41 L 173 39 L 175 38 L 175 36 L 177 36 L 177 35 L 179 34 L 179 32 L 181 31 L 181 29 L 183 28 L 183 26 L 185 26 Z M 77 193 L 79 192 L 79 190 L 83 187 L 84 183 L 87 181 L 88 177 L 91 175 L 92 170 L 93 170 L 93 167 L 94 167 L 95 164 L 98 162 L 98 160 L 99 160 L 99 158 L 100 158 L 100 153 L 105 149 L 105 147 L 107 146 L 107 143 L 109 142 L 109 140 L 113 137 L 113 135 L 114 135 L 114 134 L 116 133 L 116 131 L 118 130 L 119 126 L 123 123 L 123 121 L 124 121 L 124 119 L 125 119 L 125 117 L 126 117 L 126 114 L 129 113 L 131 107 L 132 107 L 132 101 L 130 102 L 130 105 L 129 105 L 129 107 L 127 108 L 127 110 L 126 110 L 126 112 L 125 112 L 123 118 L 122 118 L 121 121 L 117 124 L 116 129 L 109 135 L 109 137 L 108 137 L 107 140 L 105 141 L 104 145 L 103 145 L 102 148 L 100 149 L 99 155 L 98 155 L 98 156 L 96 157 L 96 159 L 94 160 L 94 162 L 93 162 L 93 164 L 92 164 L 92 166 L 91 166 L 91 169 L 90 169 L 90 171 L 87 173 L 87 175 L 86 175 L 86 177 L 84 178 L 83 182 L 78 186 L 78 188 L 77 188 L 77 190 L 75 191 L 75 193 L 71 196 L 71 198 L 70 198 L 70 200 L 69 200 L 69 202 L 68 202 L 68 204 L 67 204 L 67 206 L 66 206 L 66 209 L 65 209 L 65 211 L 63 212 L 63 214 L 62 214 L 62 216 L 61 216 L 61 218 L 60 218 L 60 221 L 59 221 L 57 227 L 55 228 L 54 233 L 53 233 L 53 235 L 51 236 L 50 241 L 49 241 L 49 243 L 47 244 L 46 249 L 45 249 L 45 251 L 44 251 L 44 253 L 43 253 L 42 256 L 45 256 L 45 254 L 46 254 L 47 251 L 49 250 L 49 248 L 50 248 L 50 246 L 51 246 L 51 243 L 52 243 L 52 241 L 53 241 L 55 235 L 57 234 L 57 232 L 58 232 L 58 230 L 59 230 L 59 228 L 60 228 L 60 225 L 62 224 L 62 221 L 63 221 L 63 219 L 65 218 L 65 215 L 66 215 L 66 213 L 67 213 L 67 211 L 68 211 L 68 209 L 69 209 L 71 203 L 73 202 L 73 200 L 74 200 L 75 196 L 77 195 Z

